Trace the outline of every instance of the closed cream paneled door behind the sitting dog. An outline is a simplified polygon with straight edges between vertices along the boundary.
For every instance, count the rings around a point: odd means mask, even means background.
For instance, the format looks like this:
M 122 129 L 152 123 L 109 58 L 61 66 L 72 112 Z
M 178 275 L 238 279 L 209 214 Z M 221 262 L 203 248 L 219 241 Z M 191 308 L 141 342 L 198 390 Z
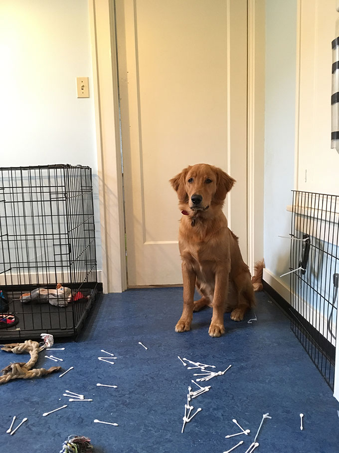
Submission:
M 169 179 L 209 163 L 247 261 L 247 0 L 116 0 L 128 284 L 182 283 Z

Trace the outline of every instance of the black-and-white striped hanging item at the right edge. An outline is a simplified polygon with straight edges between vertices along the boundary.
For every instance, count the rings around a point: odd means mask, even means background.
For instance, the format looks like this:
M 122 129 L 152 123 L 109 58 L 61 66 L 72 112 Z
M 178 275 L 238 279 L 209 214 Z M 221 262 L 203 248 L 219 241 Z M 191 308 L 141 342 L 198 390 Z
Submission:
M 339 152 L 339 36 L 332 41 L 331 148 Z

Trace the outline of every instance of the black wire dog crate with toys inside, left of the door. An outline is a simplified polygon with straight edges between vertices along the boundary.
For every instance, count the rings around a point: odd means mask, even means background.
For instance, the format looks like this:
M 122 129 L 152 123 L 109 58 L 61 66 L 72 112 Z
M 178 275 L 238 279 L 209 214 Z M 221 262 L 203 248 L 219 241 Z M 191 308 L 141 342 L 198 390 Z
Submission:
M 89 167 L 0 168 L 0 339 L 75 337 L 98 292 Z

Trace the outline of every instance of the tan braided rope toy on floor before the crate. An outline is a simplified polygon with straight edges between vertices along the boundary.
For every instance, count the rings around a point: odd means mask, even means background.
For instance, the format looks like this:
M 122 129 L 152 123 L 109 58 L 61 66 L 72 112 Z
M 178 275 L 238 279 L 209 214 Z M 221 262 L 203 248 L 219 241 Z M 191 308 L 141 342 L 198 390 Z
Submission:
M 24 343 L 10 343 L 1 348 L 2 351 L 12 352 L 13 354 L 29 353 L 30 359 L 27 363 L 11 363 L 2 371 L 0 385 L 5 384 L 11 379 L 32 379 L 61 370 L 61 367 L 33 368 L 38 360 L 39 352 L 46 348 L 46 344 L 40 346 L 38 342 L 26 340 Z

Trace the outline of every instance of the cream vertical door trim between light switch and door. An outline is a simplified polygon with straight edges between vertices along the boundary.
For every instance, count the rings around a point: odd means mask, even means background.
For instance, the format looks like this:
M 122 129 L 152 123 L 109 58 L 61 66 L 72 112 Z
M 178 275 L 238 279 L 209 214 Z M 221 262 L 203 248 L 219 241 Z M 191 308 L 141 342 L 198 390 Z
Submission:
M 104 292 L 127 288 L 113 0 L 89 0 Z M 114 125 L 114 127 L 113 127 Z

